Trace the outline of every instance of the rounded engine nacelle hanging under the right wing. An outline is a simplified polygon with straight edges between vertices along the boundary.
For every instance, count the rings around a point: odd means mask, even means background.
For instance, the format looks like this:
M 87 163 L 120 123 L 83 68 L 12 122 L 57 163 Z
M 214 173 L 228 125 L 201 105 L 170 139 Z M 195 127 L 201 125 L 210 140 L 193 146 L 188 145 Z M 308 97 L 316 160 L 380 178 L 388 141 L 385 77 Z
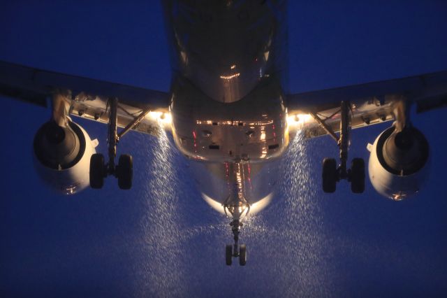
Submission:
M 395 132 L 390 127 L 368 144 L 369 179 L 377 192 L 400 201 L 416 194 L 428 173 L 429 146 L 416 128 Z

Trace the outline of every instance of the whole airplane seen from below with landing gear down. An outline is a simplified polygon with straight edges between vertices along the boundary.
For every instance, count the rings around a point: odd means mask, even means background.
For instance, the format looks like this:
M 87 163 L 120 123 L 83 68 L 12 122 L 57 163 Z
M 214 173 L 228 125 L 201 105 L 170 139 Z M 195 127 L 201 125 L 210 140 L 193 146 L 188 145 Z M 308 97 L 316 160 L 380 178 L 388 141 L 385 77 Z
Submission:
M 409 111 L 446 105 L 447 71 L 286 94 L 286 1 L 170 0 L 163 1 L 163 10 L 170 92 L 0 62 L 1 94 L 51 106 L 52 120 L 36 132 L 34 155 L 38 174 L 54 189 L 101 189 L 107 176 L 131 188 L 131 155 L 115 160 L 119 139 L 130 130 L 159 136 L 164 129 L 190 160 L 203 199 L 232 219 L 234 243 L 226 246 L 226 264 L 238 257 L 242 266 L 242 220 L 272 199 L 277 164 L 298 133 L 306 139 L 328 135 L 339 147 L 338 162 L 323 160 L 324 192 L 347 180 L 354 193 L 362 193 L 365 162 L 353 158 L 348 166 L 350 129 L 393 121 L 368 146 L 369 178 L 395 200 L 420 190 L 430 148 L 411 125 Z M 108 125 L 106 157 L 71 116 Z

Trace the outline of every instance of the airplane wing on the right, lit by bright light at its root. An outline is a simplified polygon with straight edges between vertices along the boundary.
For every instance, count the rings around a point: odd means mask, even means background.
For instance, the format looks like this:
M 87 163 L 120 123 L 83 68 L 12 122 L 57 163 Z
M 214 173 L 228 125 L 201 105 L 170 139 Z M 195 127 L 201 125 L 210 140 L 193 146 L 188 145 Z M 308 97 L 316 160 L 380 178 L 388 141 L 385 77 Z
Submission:
M 423 113 L 447 106 L 447 71 L 286 96 L 289 123 L 312 138 L 339 131 L 340 102 L 352 104 L 351 127 L 394 119 L 393 104 L 405 99 Z

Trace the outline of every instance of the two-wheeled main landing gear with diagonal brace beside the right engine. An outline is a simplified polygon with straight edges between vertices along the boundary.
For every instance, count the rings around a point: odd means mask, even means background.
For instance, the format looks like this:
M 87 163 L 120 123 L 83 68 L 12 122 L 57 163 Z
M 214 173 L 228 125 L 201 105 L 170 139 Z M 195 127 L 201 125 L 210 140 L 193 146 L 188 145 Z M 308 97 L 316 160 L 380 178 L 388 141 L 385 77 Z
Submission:
M 365 161 L 362 158 L 354 158 L 351 162 L 351 169 L 347 168 L 349 150 L 349 129 L 351 105 L 349 101 L 342 101 L 340 136 L 338 137 L 321 118 L 314 114 L 315 120 L 330 134 L 336 141 L 340 150 L 340 164 L 337 166 L 335 159 L 325 158 L 323 160 L 323 191 L 335 192 L 337 182 L 346 179 L 351 183 L 351 191 L 360 194 L 365 191 Z

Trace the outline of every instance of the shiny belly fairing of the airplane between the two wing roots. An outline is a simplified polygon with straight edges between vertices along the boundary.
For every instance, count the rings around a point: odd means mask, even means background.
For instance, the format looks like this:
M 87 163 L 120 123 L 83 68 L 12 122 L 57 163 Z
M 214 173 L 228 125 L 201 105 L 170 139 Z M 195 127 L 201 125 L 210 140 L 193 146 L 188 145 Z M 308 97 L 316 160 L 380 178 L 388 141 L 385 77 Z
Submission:
M 244 99 L 213 101 L 186 78 L 173 85 L 170 113 L 174 141 L 191 159 L 262 162 L 288 145 L 286 108 L 277 80 L 268 78 Z

